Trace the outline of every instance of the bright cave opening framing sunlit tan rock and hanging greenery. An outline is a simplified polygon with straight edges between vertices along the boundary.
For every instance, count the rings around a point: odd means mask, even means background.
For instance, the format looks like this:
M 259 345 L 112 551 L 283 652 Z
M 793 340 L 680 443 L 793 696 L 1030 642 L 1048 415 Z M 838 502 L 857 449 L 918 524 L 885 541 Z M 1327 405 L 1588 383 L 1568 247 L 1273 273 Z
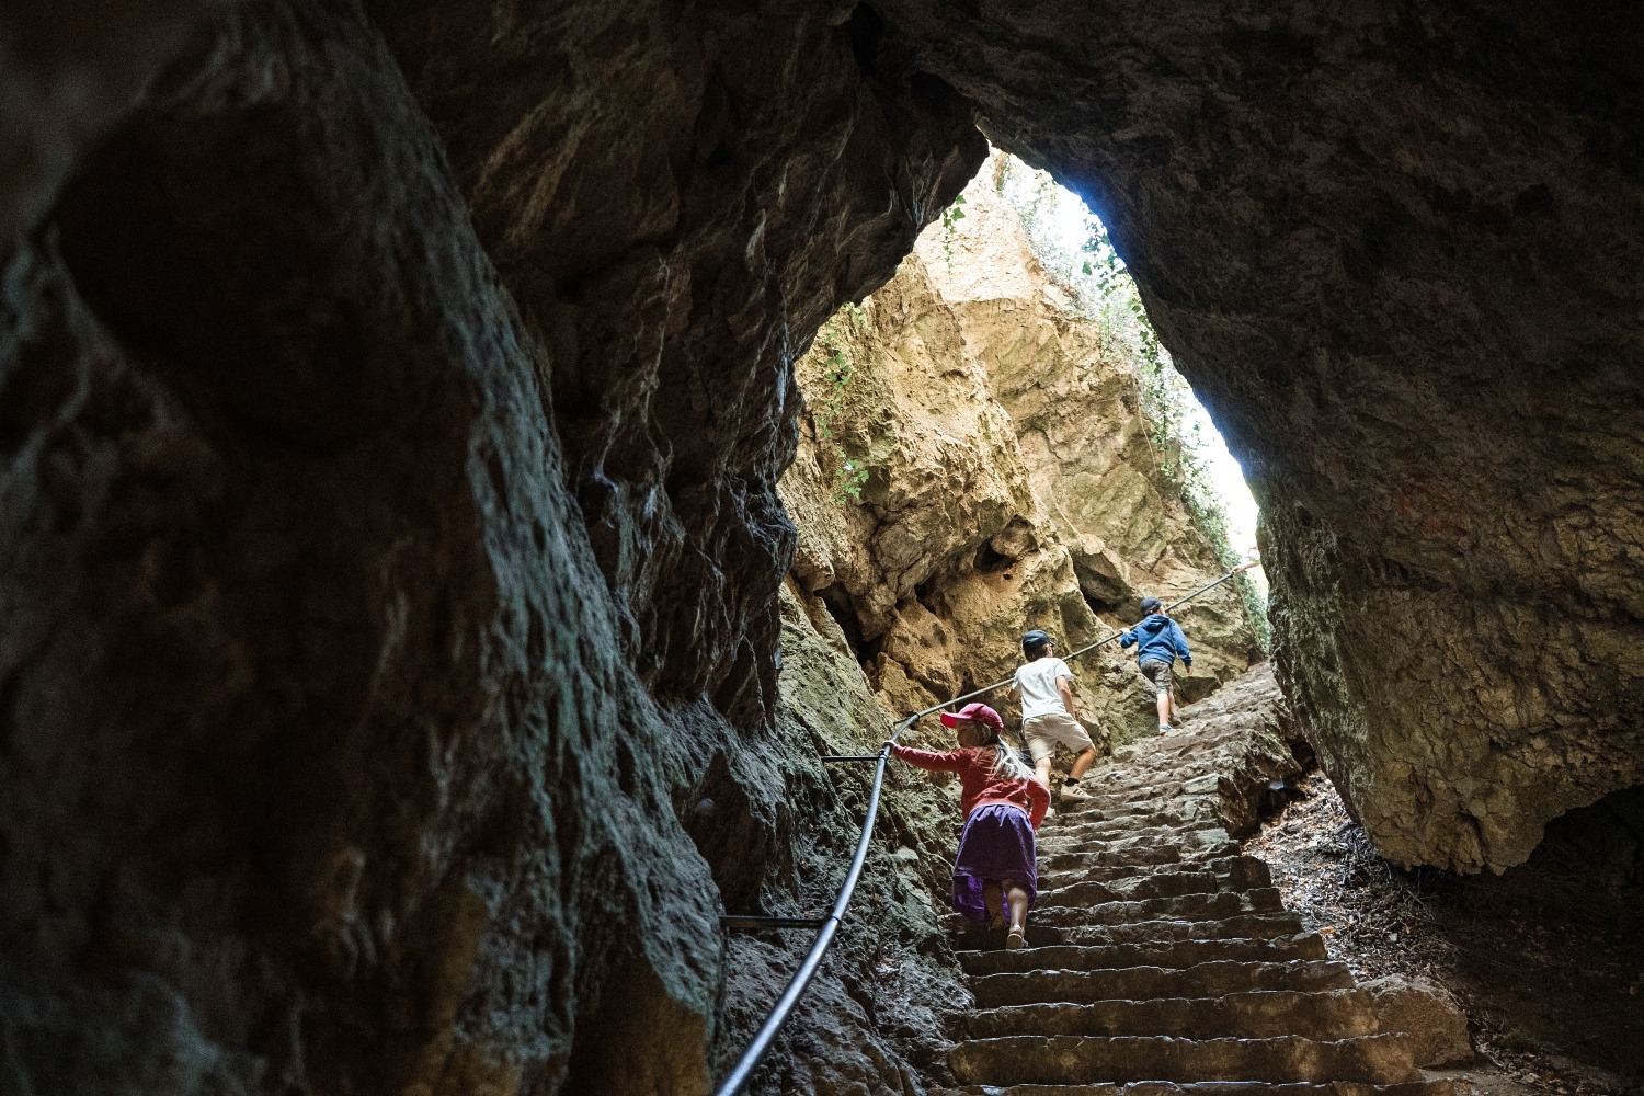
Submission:
M 983 601 L 1082 639 L 1256 555 L 1243 470 L 1101 220 L 1008 153 L 889 283 L 822 324 L 797 380 L 781 485 L 806 529 L 796 572 L 875 687 L 886 672 L 931 695 L 985 680 L 993 667 L 967 677 L 968 657 L 944 654 L 1011 647 L 967 629 Z M 1064 569 L 1057 596 L 1047 567 Z M 1236 670 L 1268 647 L 1261 573 L 1233 600 L 1197 611 L 1212 629 L 1248 621 Z

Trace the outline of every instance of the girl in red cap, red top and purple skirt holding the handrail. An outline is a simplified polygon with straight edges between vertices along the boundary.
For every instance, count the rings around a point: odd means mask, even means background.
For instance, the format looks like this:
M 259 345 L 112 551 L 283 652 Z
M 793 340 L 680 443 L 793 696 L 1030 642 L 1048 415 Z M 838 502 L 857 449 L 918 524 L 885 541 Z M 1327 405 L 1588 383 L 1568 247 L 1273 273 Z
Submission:
M 985 703 L 944 711 L 958 731 L 958 749 L 935 753 L 891 746 L 903 761 L 935 772 L 957 772 L 965 828 L 954 858 L 954 905 L 977 923 L 1009 933 L 1006 948 L 1028 946 L 1028 910 L 1039 891 L 1032 831 L 1044 820 L 1051 792 L 1016 751 L 1000 741 L 1004 720 Z

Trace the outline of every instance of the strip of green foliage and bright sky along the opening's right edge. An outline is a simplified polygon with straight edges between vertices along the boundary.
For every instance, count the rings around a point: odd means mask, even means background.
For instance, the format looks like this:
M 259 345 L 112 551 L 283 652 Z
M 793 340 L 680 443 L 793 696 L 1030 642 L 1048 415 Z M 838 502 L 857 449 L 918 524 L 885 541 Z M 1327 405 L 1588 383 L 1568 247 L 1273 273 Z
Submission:
M 1051 279 L 1069 296 L 1072 311 L 1101 329 L 1101 348 L 1129 363 L 1141 389 L 1141 409 L 1159 457 L 1159 470 L 1179 491 L 1194 524 L 1203 532 L 1223 567 L 1245 562 L 1228 536 L 1225 504 L 1203 458 L 1200 421 L 1190 414 L 1192 388 L 1171 363 L 1169 352 L 1148 319 L 1136 279 L 1124 266 L 1106 227 L 1093 215 L 1083 217 L 1083 242 L 1074 248 L 1059 232 L 1059 187 L 1044 171 L 1009 159 L 998 177 L 1000 194 L 1011 204 L 1034 255 Z M 1245 610 L 1263 649 L 1269 642 L 1268 606 L 1249 573 L 1240 585 Z

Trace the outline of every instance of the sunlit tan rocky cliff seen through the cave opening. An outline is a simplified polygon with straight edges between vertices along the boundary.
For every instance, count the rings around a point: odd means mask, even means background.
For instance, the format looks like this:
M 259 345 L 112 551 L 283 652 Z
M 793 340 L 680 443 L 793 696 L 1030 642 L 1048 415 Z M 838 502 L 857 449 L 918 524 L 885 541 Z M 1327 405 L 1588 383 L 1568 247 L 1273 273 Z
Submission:
M 996 156 L 965 189 L 965 217 L 926 230 L 799 363 L 806 429 L 783 478 L 794 575 L 843 621 L 898 716 L 1009 677 L 1028 628 L 1067 652 L 1134 623 L 1139 595 L 1221 573 L 1166 472 L 1172 442 L 1141 411 L 1136 366 L 1034 256 L 998 192 L 1004 168 Z M 1231 585 L 1182 623 L 1190 698 L 1261 657 Z M 1116 646 L 1087 657 L 1078 708 L 1098 741 L 1157 723 Z

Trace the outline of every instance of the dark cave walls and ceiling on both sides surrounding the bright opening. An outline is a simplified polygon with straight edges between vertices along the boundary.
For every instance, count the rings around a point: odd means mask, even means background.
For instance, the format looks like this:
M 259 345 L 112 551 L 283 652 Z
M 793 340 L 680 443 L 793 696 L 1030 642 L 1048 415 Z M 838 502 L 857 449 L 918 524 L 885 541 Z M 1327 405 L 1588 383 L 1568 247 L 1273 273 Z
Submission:
M 727 900 L 810 915 L 855 840 L 827 674 L 935 588 L 807 562 L 796 363 L 990 143 L 1245 467 L 1378 853 L 1516 887 L 1552 827 L 1629 902 L 1641 53 L 1568 0 L 0 13 L 7 1086 L 707 1091 L 794 961 Z M 934 940 L 916 815 L 870 884 Z M 769 1091 L 912 1091 L 817 992 Z

